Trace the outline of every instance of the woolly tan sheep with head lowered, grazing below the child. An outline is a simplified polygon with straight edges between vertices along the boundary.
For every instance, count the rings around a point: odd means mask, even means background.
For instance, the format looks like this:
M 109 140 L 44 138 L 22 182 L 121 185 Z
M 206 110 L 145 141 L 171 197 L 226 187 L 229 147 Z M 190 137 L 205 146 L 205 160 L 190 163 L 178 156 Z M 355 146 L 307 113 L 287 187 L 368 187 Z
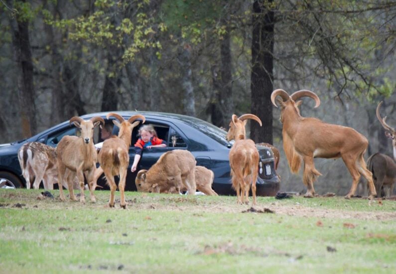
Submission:
M 143 186 L 146 191 L 154 187 L 155 192 L 169 190 L 171 187 L 179 191 L 185 187 L 189 195 L 195 195 L 195 164 L 194 155 L 188 150 L 165 152 L 149 170 L 143 169 L 137 173 L 136 187 L 139 190 Z

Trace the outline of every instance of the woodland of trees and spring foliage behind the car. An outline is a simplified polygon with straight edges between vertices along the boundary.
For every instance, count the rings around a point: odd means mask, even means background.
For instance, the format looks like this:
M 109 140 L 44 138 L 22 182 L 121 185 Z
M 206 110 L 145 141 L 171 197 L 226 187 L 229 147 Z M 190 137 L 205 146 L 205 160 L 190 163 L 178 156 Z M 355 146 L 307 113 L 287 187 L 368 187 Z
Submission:
M 138 110 L 186 114 L 228 128 L 253 113 L 248 134 L 281 152 L 281 189 L 303 191 L 282 147 L 270 94 L 309 89 L 302 116 L 353 127 L 366 159 L 396 126 L 396 1 L 0 0 L 0 142 L 72 116 Z M 341 159 L 315 159 L 318 193 L 344 195 Z

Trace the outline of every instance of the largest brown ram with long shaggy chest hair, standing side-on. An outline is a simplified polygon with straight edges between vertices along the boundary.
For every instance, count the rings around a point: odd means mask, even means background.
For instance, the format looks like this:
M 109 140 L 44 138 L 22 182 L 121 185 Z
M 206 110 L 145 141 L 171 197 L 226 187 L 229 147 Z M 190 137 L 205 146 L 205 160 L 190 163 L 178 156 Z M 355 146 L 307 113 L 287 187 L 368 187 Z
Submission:
M 304 197 L 313 197 L 315 190 L 313 182 L 317 176 L 322 175 L 316 170 L 313 158 L 339 158 L 341 157 L 351 173 L 353 182 L 345 198 L 350 199 L 356 191 L 360 175 L 368 181 L 370 198 L 376 196 L 372 173 L 367 169 L 364 160 L 369 141 L 366 137 L 352 128 L 327 124 L 316 118 L 300 116 L 298 106 L 302 97 L 315 100 L 315 108 L 319 107 L 319 97 L 309 90 L 300 90 L 288 95 L 282 89 L 274 90 L 271 94 L 272 104 L 277 107 L 275 98 L 281 107 L 280 122 L 283 124 L 283 149 L 293 173 L 297 173 L 301 161 L 304 162 L 303 183 L 307 186 Z

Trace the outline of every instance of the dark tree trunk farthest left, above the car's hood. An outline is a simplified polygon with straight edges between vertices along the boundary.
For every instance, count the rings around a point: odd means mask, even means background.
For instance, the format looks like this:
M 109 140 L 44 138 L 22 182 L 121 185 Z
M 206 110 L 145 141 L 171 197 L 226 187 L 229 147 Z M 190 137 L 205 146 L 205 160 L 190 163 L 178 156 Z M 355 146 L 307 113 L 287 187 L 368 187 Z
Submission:
M 25 2 L 25 1 L 23 1 Z M 12 1 L 7 1 L 11 6 Z M 10 19 L 12 31 L 12 45 L 14 60 L 18 68 L 18 103 L 21 117 L 23 137 L 27 138 L 36 133 L 36 108 L 34 104 L 35 91 L 33 83 L 33 62 L 29 41 L 29 22 L 15 14 L 15 19 Z

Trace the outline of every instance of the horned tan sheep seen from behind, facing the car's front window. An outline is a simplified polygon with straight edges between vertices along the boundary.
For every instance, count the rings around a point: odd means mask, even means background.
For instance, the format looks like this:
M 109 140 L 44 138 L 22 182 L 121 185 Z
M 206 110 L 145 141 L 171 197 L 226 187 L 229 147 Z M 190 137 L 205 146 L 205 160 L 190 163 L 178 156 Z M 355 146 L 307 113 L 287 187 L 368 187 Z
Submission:
M 116 113 L 109 113 L 106 118 L 110 117 L 117 118 L 118 121 L 113 120 L 113 123 L 119 127 L 120 131 L 117 136 L 113 136 L 110 139 L 106 139 L 103 142 L 102 148 L 99 151 L 99 163 L 103 172 L 105 173 L 106 180 L 110 185 L 110 199 L 109 207 L 114 207 L 114 193 L 117 189 L 114 176 L 120 176 L 120 182 L 118 188 L 121 194 L 121 207 L 127 208 L 127 202 L 125 201 L 125 184 L 127 179 L 127 170 L 129 164 L 129 147 L 131 145 L 132 130 L 136 127 L 141 119 L 142 123 L 145 122 L 145 118 L 142 115 L 133 115 L 127 121 Z

